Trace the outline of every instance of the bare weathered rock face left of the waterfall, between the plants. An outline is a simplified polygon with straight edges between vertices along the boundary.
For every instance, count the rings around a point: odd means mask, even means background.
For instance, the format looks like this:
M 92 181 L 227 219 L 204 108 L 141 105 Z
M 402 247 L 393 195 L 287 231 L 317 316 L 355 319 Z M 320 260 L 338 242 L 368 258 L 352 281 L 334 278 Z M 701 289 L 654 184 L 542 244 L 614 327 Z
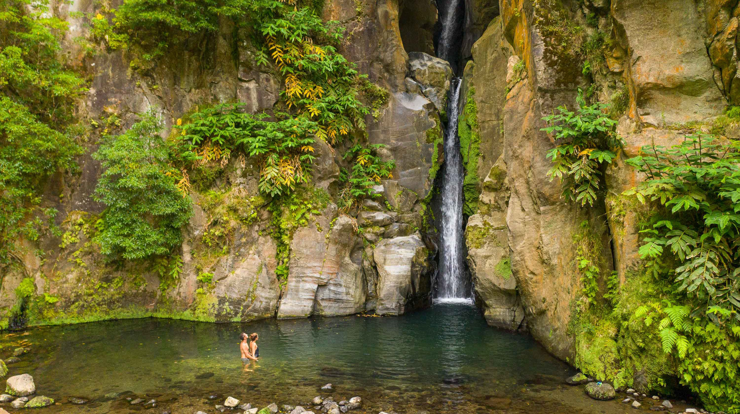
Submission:
M 81 174 L 50 180 L 44 200 L 58 209 L 57 223 L 67 241 L 61 243 L 51 234 L 37 243 L 21 240 L 26 246 L 19 252 L 21 260 L 1 271 L 0 308 L 5 313 L 13 308 L 21 300 L 16 288 L 30 278 L 35 294 L 41 295 L 40 300 L 32 298 L 28 304 L 25 322 L 32 325 L 138 316 L 248 321 L 374 310 L 380 297 L 378 274 L 388 274 L 386 270 L 378 272 L 371 260 L 375 243 L 380 238 L 410 237 L 423 226 L 423 200 L 434 178 L 430 169 L 440 155 L 435 151 L 435 140 L 440 138 L 440 107 L 451 76 L 448 65 L 428 55 L 422 59 L 423 75 L 412 73 L 401 39 L 399 13 L 403 7 L 408 18 L 414 4 L 336 0 L 327 1 L 323 8 L 327 19 L 340 20 L 351 33 L 340 44 L 340 51 L 381 91 L 387 90 L 385 102 L 366 118 L 369 142 L 383 144 L 381 157 L 396 164 L 392 179 L 377 186 L 377 207 L 360 209 L 359 215 L 357 210 L 338 210 L 337 180 L 340 167 L 347 167 L 346 161 L 326 143 L 317 142 L 309 193 L 323 191 L 321 197 L 328 197 L 329 202 L 319 213 L 309 215 L 308 225 L 295 229 L 288 243 L 289 260 L 278 262 L 280 246 L 270 235 L 268 200 L 257 188 L 259 166 L 233 158 L 208 188 L 192 192 L 194 214 L 178 251 L 182 271 L 169 280 L 155 264 L 114 266 L 98 253 L 91 229 L 104 206 L 92 200 L 101 169 L 90 157 L 97 149 L 90 144 L 79 160 Z M 94 7 L 84 2 L 72 6 L 93 15 Z M 436 16 L 431 7 L 426 16 L 431 22 L 417 26 L 414 36 L 420 45 L 431 42 L 428 30 Z M 85 35 L 84 25 L 75 21 L 75 33 Z M 116 115 L 124 129 L 137 120 L 138 112 L 151 108 L 161 116 L 166 135 L 195 104 L 239 101 L 249 112 L 271 110 L 283 80 L 270 67 L 255 64 L 255 50 L 249 40 L 243 41 L 243 33 L 236 33 L 226 21 L 221 24 L 213 38 L 203 39 L 208 44 L 206 52 L 173 46 L 172 55 L 164 56 L 146 76 L 129 70 L 124 53 L 98 52 L 84 62 L 90 67 L 92 84 L 84 99 L 83 115 Z M 70 42 L 68 47 L 77 46 Z M 420 49 L 433 52 L 428 47 Z M 214 194 L 220 195 L 213 198 Z M 229 211 L 237 216 L 227 217 L 233 214 Z M 363 232 L 358 235 L 360 229 Z M 417 242 L 420 240 L 417 235 Z M 363 248 L 363 243 L 367 247 Z M 43 261 L 33 254 L 37 248 L 47 252 Z M 429 245 L 424 254 L 431 257 L 434 249 Z M 433 263 L 414 252 L 394 259 L 397 265 L 412 268 L 414 276 L 406 280 L 406 286 L 394 282 L 400 291 L 411 292 L 408 296 L 383 293 L 383 306 L 395 309 L 393 313 L 426 303 L 422 296 L 429 293 L 427 273 Z M 281 281 L 278 269 L 283 265 L 289 271 Z M 421 285 L 411 286 L 412 282 Z M 53 299 L 45 300 L 44 293 Z

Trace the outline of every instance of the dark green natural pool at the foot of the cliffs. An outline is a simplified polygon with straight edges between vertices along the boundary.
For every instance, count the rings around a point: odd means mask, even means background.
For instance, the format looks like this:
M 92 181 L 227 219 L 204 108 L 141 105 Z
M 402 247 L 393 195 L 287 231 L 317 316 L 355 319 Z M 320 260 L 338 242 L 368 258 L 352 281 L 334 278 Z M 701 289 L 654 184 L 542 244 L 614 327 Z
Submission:
M 243 331 L 260 334 L 260 361 L 246 367 L 238 350 Z M 126 396 L 158 399 L 149 413 L 216 413 L 226 396 L 256 407 L 308 408 L 317 395 L 361 396 L 363 407 L 351 413 L 625 412 L 563 384 L 574 373 L 570 367 L 529 336 L 489 328 L 476 308 L 462 303 L 400 317 L 245 324 L 133 319 L 31 328 L 4 334 L 2 356 L 23 344 L 30 353 L 10 364 L 9 375 L 30 373 L 38 394 L 62 403 L 39 413 L 144 410 Z M 321 392 L 326 383 L 334 390 Z M 210 394 L 219 398 L 209 401 Z M 72 396 L 92 401 L 75 406 L 67 402 Z

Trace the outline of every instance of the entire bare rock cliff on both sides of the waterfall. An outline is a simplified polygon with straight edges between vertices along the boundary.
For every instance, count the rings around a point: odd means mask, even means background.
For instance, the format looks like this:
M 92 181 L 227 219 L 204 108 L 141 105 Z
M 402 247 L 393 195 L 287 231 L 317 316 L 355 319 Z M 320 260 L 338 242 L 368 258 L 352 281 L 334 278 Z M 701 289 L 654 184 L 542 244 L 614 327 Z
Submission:
M 569 330 L 583 308 L 576 240 L 598 240 L 602 287 L 616 272 L 625 283 L 639 267 L 641 207 L 622 196 L 644 177 L 625 164 L 647 143 L 670 146 L 687 123 L 706 123 L 740 104 L 738 10 L 733 0 L 475 0 L 465 2 L 461 58 L 467 59 L 460 117 L 465 155 L 465 242 L 477 304 L 490 325 L 528 330 L 555 356 L 577 361 Z M 67 48 L 92 83 L 81 116 L 124 129 L 155 109 L 169 129 L 195 106 L 240 101 L 271 109 L 280 77 L 254 64 L 244 33 L 221 23 L 218 35 L 178 45 L 146 75 L 129 70 L 126 52 L 81 54 L 94 4 L 56 4 L 73 27 Z M 288 245 L 280 279 L 277 241 L 269 235 L 258 166 L 232 159 L 223 174 L 192 191 L 195 214 L 184 231 L 181 274 L 166 279 L 152 263 L 106 262 L 91 235 L 104 206 L 92 200 L 101 173 L 90 155 L 78 174 L 47 183 L 43 206 L 57 208 L 61 237 L 21 240 L 15 262 L 0 270 L 5 319 L 22 305 L 27 323 L 138 316 L 206 321 L 337 316 L 363 311 L 399 315 L 430 303 L 434 228 L 428 200 L 443 163 L 443 120 L 453 76 L 433 56 L 437 11 L 428 0 L 332 0 L 323 18 L 346 27 L 340 51 L 385 91 L 369 103 L 368 143 L 395 161 L 393 178 L 356 211 L 340 213 L 337 181 L 346 160 L 317 143 L 305 225 Z M 189 46 L 192 46 L 189 45 Z M 199 52 L 193 52 L 197 49 Z M 542 117 L 573 107 L 581 88 L 610 102 L 625 147 L 605 172 L 605 201 L 582 208 L 561 197 L 547 176 L 554 138 Z M 33 279 L 30 298 L 16 292 Z M 638 373 L 636 373 L 638 375 Z

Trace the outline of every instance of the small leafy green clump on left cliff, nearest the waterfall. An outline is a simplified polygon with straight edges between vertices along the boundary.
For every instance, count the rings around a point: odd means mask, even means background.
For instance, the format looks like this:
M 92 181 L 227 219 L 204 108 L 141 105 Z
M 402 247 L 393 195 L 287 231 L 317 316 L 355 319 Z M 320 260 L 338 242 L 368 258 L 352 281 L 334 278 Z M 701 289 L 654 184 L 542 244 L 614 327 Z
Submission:
M 348 211 L 357 204 L 357 200 L 366 197 L 380 197 L 375 194 L 372 187 L 380 183 L 380 180 L 393 178 L 391 170 L 396 163 L 393 160 L 383 161 L 377 155 L 377 150 L 383 148 L 383 144 L 370 146 L 354 145 L 344 154 L 344 159 L 349 160 L 349 170 L 342 169 L 340 182 L 343 189 L 339 194 L 339 207 Z

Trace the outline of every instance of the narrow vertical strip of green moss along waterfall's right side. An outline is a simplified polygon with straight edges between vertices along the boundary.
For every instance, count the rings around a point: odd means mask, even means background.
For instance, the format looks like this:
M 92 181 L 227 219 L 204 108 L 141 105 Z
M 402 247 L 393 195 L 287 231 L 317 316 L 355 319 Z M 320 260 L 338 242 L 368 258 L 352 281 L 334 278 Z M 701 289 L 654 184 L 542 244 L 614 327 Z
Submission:
M 457 123 L 457 134 L 460 136 L 460 153 L 462 165 L 465 166 L 465 177 L 462 179 L 463 205 L 462 213 L 471 216 L 478 209 L 480 183 L 478 180 L 478 160 L 480 159 L 480 125 L 478 107 L 475 104 L 475 89 L 470 87 Z

